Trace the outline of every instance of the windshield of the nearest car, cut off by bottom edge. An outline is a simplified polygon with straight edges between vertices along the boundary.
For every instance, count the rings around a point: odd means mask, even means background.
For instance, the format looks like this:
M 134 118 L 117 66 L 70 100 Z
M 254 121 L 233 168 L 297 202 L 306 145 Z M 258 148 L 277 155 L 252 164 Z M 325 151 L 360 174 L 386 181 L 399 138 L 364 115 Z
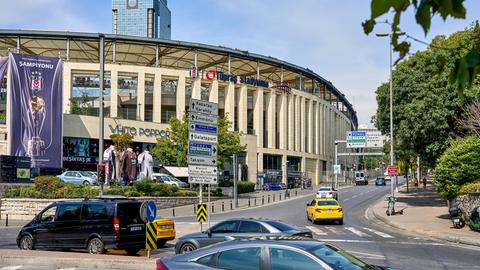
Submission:
M 308 250 L 335 270 L 370 270 L 370 265 L 360 261 L 346 251 L 330 245 L 319 245 Z

